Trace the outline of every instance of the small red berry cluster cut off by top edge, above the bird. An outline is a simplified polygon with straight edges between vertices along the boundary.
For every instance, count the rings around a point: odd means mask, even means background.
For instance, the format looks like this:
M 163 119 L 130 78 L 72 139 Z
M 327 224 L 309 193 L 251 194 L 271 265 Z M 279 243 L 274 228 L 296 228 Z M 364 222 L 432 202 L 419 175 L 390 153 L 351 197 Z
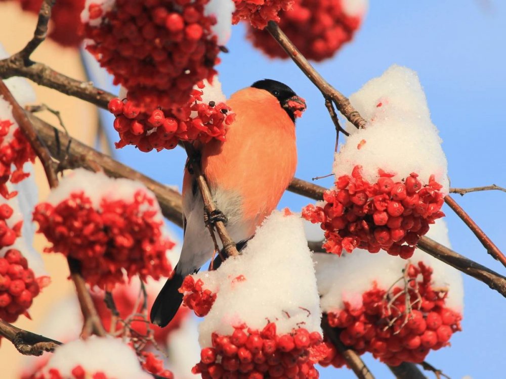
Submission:
M 248 21 L 254 28 L 264 29 L 269 21 L 279 22 L 278 13 L 286 11 L 294 0 L 234 0 L 232 24 Z

